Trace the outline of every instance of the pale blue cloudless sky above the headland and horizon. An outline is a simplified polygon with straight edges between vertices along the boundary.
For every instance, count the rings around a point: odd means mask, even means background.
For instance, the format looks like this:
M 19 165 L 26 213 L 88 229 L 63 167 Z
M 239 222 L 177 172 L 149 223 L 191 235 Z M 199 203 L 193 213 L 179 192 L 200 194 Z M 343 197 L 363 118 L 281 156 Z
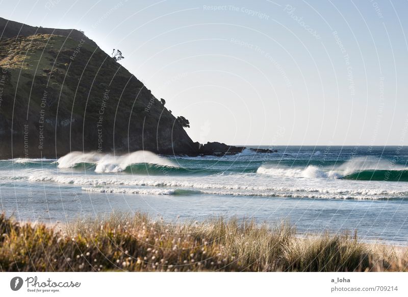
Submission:
M 84 30 L 200 142 L 408 144 L 406 1 L 1 1 Z

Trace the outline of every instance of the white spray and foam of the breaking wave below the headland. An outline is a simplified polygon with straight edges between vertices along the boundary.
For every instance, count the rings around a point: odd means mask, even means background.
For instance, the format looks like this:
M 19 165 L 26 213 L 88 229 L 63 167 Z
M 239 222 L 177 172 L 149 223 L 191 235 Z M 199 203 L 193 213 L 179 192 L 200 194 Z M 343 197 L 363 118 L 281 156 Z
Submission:
M 119 172 L 125 170 L 127 166 L 139 163 L 177 167 L 170 160 L 148 151 L 137 151 L 123 156 L 112 156 L 95 152 L 72 152 L 61 157 L 57 162 L 59 168 L 70 168 L 80 163 L 95 164 L 95 172 Z

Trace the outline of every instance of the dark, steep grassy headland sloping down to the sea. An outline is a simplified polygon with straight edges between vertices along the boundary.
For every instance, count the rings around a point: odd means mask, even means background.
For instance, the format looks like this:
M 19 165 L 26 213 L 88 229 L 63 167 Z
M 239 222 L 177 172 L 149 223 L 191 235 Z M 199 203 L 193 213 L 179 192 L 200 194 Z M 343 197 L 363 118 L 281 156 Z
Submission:
M 0 19 L 0 159 L 198 153 L 150 90 L 81 32 L 8 23 Z

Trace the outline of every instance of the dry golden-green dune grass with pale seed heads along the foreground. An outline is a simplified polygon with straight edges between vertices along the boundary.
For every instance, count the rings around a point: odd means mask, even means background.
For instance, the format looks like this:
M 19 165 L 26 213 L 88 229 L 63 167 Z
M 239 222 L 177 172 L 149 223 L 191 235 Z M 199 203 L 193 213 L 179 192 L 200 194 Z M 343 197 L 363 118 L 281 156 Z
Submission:
M 406 249 L 237 219 L 168 224 L 137 213 L 49 228 L 0 215 L 0 235 L 1 271 L 408 270 Z

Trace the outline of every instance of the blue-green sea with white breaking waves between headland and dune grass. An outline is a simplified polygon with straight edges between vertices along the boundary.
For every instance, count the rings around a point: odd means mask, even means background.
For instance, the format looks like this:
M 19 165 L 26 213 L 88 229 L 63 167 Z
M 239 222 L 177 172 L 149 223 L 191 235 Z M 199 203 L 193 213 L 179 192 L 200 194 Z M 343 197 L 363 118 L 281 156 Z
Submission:
M 406 147 L 273 150 L 0 160 L 1 209 L 18 220 L 47 223 L 135 211 L 168 221 L 235 216 L 271 226 L 288 221 L 299 235 L 356 230 L 362 241 L 408 244 Z

